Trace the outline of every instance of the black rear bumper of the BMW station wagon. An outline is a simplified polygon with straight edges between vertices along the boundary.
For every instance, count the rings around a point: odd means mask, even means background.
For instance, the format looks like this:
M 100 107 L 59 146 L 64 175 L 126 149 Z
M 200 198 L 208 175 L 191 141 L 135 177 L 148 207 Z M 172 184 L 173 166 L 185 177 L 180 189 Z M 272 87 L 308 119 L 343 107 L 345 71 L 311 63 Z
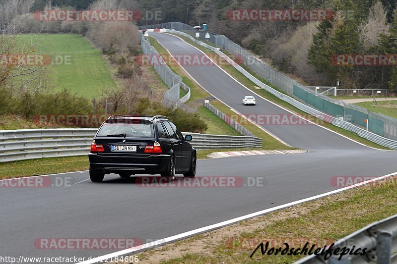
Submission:
M 110 173 L 158 174 L 167 169 L 170 155 L 150 155 L 149 157 L 103 157 L 90 153 L 90 169 Z

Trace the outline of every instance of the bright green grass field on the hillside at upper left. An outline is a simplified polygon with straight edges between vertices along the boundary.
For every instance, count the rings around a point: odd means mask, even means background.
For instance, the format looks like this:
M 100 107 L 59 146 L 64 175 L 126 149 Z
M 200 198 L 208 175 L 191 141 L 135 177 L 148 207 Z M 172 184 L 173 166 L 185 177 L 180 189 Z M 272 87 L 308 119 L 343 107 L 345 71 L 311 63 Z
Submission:
M 22 45 L 35 42 L 36 54 L 46 54 L 59 58 L 70 58 L 68 63 L 58 59 L 49 66 L 49 78 L 56 90 L 68 89 L 86 98 L 98 97 L 104 89 L 116 87 L 110 69 L 101 51 L 78 35 L 71 34 L 21 34 Z M 69 57 L 65 57 L 69 56 Z

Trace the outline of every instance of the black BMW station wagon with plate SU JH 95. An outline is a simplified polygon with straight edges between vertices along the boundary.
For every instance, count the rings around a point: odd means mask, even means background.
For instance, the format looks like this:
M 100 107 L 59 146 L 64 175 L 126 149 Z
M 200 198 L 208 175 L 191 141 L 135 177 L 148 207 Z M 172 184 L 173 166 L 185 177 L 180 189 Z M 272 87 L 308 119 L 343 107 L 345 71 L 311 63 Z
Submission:
M 122 178 L 161 174 L 174 180 L 178 173 L 195 177 L 197 154 L 191 140 L 166 116 L 112 115 L 92 141 L 90 179 L 100 182 L 110 173 Z

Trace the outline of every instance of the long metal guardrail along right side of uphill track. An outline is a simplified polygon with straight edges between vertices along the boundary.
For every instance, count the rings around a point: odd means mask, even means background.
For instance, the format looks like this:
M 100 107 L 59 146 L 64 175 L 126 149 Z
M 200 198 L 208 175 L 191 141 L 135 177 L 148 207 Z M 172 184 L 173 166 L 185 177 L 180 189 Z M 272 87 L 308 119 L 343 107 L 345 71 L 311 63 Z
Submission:
M 393 150 L 397 150 L 397 141 L 392 140 L 392 139 L 388 139 L 385 137 L 382 137 L 380 135 L 377 135 L 375 133 L 372 133 L 370 131 L 366 131 L 365 129 L 362 129 L 358 126 L 355 126 L 352 123 L 349 123 L 347 121 L 344 120 L 340 120 L 339 118 L 333 117 L 329 114 L 325 114 L 319 110 L 317 110 L 316 108 L 313 108 L 311 106 L 305 105 L 297 100 L 295 100 L 294 98 L 280 93 L 277 90 L 271 88 L 270 86 L 264 84 L 263 82 L 261 82 L 260 80 L 258 80 L 256 77 L 254 77 L 251 73 L 249 73 L 248 71 L 246 71 L 243 67 L 241 67 L 240 65 L 238 65 L 237 63 L 235 63 L 230 57 L 228 57 L 226 54 L 222 53 L 221 51 L 219 51 L 217 48 L 214 48 L 206 43 L 203 43 L 201 41 L 196 40 L 195 38 L 193 38 L 191 35 L 181 32 L 181 31 L 177 31 L 177 30 L 170 30 L 170 29 L 163 29 L 163 32 L 168 32 L 168 33 L 175 33 L 175 34 L 179 34 L 182 36 L 185 36 L 187 38 L 189 38 L 190 40 L 192 40 L 193 42 L 199 44 L 200 46 L 207 48 L 211 51 L 213 51 L 214 53 L 218 54 L 219 56 L 222 56 L 224 59 L 226 59 L 234 68 L 236 68 L 239 72 L 241 72 L 245 77 L 247 77 L 248 79 L 250 79 L 253 83 L 255 83 L 257 86 L 265 89 L 266 91 L 268 91 L 269 93 L 271 93 L 272 95 L 276 96 L 277 98 L 291 104 L 292 106 L 297 107 L 298 109 L 309 113 L 311 115 L 314 115 L 316 117 L 318 117 L 321 120 L 325 120 L 329 123 L 332 123 L 335 126 L 341 127 L 343 129 L 346 129 L 348 131 L 354 132 L 357 135 L 359 135 L 360 137 L 363 137 L 365 139 L 368 139 L 372 142 L 375 142 L 381 146 L 393 149 Z M 294 82 L 296 83 L 296 82 Z M 291 87 L 292 89 L 293 87 Z M 311 90 L 308 89 L 308 91 L 312 92 Z M 323 96 L 323 95 L 322 95 Z M 325 97 L 325 96 L 323 96 Z M 358 107 L 358 106 L 356 106 Z

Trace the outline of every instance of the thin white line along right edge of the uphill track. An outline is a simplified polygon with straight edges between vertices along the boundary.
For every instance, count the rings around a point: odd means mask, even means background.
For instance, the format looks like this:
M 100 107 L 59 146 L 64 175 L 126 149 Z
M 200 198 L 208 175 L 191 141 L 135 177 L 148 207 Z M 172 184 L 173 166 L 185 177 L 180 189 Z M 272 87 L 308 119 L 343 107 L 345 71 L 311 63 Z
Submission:
M 178 37 L 178 36 L 175 36 L 175 35 L 173 35 L 173 34 L 170 34 L 170 33 L 162 33 L 162 34 L 168 34 L 168 35 L 171 35 L 171 36 L 174 36 L 175 38 L 178 38 L 178 39 L 180 39 L 180 40 L 182 40 L 183 42 L 185 42 L 186 44 L 188 44 L 189 46 L 192 46 L 193 48 L 195 48 L 196 50 L 198 50 L 200 53 L 203 53 L 205 56 L 207 56 L 207 54 L 205 54 L 203 51 L 201 51 L 200 49 L 198 49 L 198 48 L 196 48 L 195 46 L 193 46 L 192 44 L 190 44 L 190 43 L 187 43 L 185 40 L 183 40 L 182 38 L 180 38 L 180 37 Z M 175 33 L 175 34 L 177 34 L 177 33 Z M 199 45 L 199 44 L 198 44 Z M 204 49 L 206 49 L 205 47 L 203 47 Z M 168 50 L 167 50 L 168 51 Z M 209 50 L 210 51 L 210 50 Z M 212 51 L 211 51 L 212 52 Z M 219 51 L 219 52 L 221 52 L 221 51 Z M 170 53 L 171 54 L 171 53 Z M 223 54 L 223 55 L 225 55 L 226 57 L 228 57 L 226 54 Z M 171 55 L 172 56 L 172 55 Z M 219 56 L 219 55 L 218 55 Z M 207 56 L 208 57 L 208 56 Z M 321 127 L 321 128 L 324 128 L 324 129 L 327 129 L 328 131 L 330 131 L 330 132 L 332 132 L 332 133 L 335 133 L 335 134 L 337 134 L 337 135 L 339 135 L 339 136 L 341 136 L 341 137 L 344 137 L 344 138 L 346 138 L 346 139 L 348 139 L 348 140 L 350 140 L 350 141 L 353 141 L 353 142 L 355 142 L 355 143 L 357 143 L 357 144 L 359 144 L 359 145 L 361 145 L 361 146 L 365 146 L 365 147 L 367 147 L 367 148 L 371 148 L 371 149 L 374 149 L 374 150 L 379 150 L 379 151 L 395 151 L 395 150 L 381 150 L 381 149 L 377 149 L 377 148 L 374 148 L 374 147 L 370 147 L 370 146 L 367 146 L 367 145 L 365 145 L 365 144 L 363 144 L 363 143 L 360 143 L 360 142 L 358 142 L 358 141 L 356 141 L 356 140 L 354 140 L 354 139 L 351 139 L 351 138 L 349 138 L 349 137 L 347 137 L 347 136 L 344 136 L 344 135 L 342 135 L 342 134 L 339 134 L 338 132 L 336 132 L 336 131 L 333 131 L 333 130 L 331 130 L 331 129 L 329 129 L 329 128 L 327 128 L 327 127 L 324 127 L 324 126 L 321 126 L 321 125 L 319 125 L 319 124 L 316 124 L 315 122 L 313 122 L 313 121 L 311 121 L 311 120 L 307 120 L 307 119 L 305 119 L 305 118 L 303 118 L 302 116 L 300 116 L 300 115 L 298 115 L 298 114 L 296 114 L 296 113 L 294 113 L 294 112 L 292 112 L 292 111 L 290 111 L 290 110 L 288 110 L 288 109 L 286 109 L 286 108 L 284 108 L 284 107 L 282 107 L 282 106 L 279 106 L 279 105 L 277 105 L 276 103 L 274 103 L 274 102 L 271 102 L 270 100 L 267 100 L 266 98 L 264 98 L 264 97 L 262 97 L 261 95 L 259 95 L 259 94 L 257 94 L 256 92 L 254 92 L 254 91 L 252 91 L 250 88 L 248 88 L 248 87 L 246 87 L 245 85 L 243 85 L 242 83 L 240 83 L 239 81 L 237 81 L 233 76 L 231 76 L 228 72 L 226 72 L 224 69 L 222 69 L 222 67 L 220 67 L 218 64 L 216 64 L 210 57 L 208 57 L 219 69 L 221 69 L 224 73 L 226 73 L 227 75 L 229 75 L 229 77 L 230 78 L 232 78 L 233 80 L 235 80 L 237 83 L 239 83 L 241 86 L 243 86 L 245 89 L 247 89 L 247 90 L 249 90 L 251 93 L 253 93 L 253 94 L 255 94 L 255 95 L 257 95 L 258 97 L 260 97 L 260 98 L 262 98 L 263 100 L 265 100 L 265 101 L 267 101 L 267 102 L 269 102 L 269 103 L 271 103 L 271 104 L 273 104 L 273 105 L 275 105 L 275 106 L 278 106 L 278 107 L 280 107 L 281 109 L 283 109 L 283 110 L 285 110 L 285 111 L 287 111 L 287 112 L 289 112 L 289 113 L 291 113 L 291 114 L 293 114 L 293 115 L 296 115 L 296 116 L 298 116 L 299 118 L 301 118 L 301 119 L 304 119 L 304 120 L 306 120 L 306 121 L 308 121 L 308 122 L 310 122 L 310 123 L 312 123 L 312 124 L 314 124 L 314 125 L 316 125 L 316 126 L 319 126 L 319 127 Z M 229 63 L 230 64 L 230 63 Z M 186 71 L 186 70 L 185 70 Z M 190 76 L 190 75 L 189 75 Z M 193 79 L 193 78 L 192 78 Z M 194 79 L 193 79 L 194 80 Z M 195 80 L 196 81 L 196 80 Z M 197 82 L 197 81 L 196 81 Z M 262 83 L 262 82 L 261 82 Z M 264 83 L 262 83 L 263 85 L 265 85 L 265 86 L 267 86 L 267 87 L 269 87 L 269 88 L 271 88 L 270 86 L 268 86 L 268 85 L 266 85 L 266 84 L 264 84 Z M 204 89 L 204 88 L 203 88 Z M 262 88 L 261 88 L 262 89 Z M 273 89 L 273 88 L 271 88 L 271 89 Z M 204 89 L 205 90 L 205 89 Z M 265 90 L 265 89 L 264 89 Z M 205 90 L 206 92 L 208 92 L 207 90 Z M 209 93 L 209 92 L 208 92 Z M 210 95 L 212 95 L 211 93 L 209 93 Z M 213 96 L 213 95 L 212 95 Z M 289 96 L 289 95 L 287 95 L 287 96 Z M 213 96 L 213 97 L 215 97 L 215 96 Z M 289 96 L 290 97 L 290 96 Z M 215 97 L 216 98 L 216 97 Z M 292 97 L 291 97 L 292 98 Z M 216 98 L 217 100 L 219 100 L 218 98 Z M 293 98 L 292 98 L 293 99 Z M 280 99 L 281 100 L 281 99 Z M 294 99 L 295 100 L 295 99 Z M 221 100 L 219 100 L 220 102 L 222 102 Z M 225 104 L 224 102 L 222 102 L 223 104 Z M 226 105 L 226 104 L 225 104 Z M 227 105 L 226 105 L 227 106 Z M 230 106 L 229 106 L 230 107 Z M 231 107 L 230 107 L 231 108 Z M 308 113 L 309 114 L 309 113 Z M 347 131 L 347 130 L 346 130 Z

